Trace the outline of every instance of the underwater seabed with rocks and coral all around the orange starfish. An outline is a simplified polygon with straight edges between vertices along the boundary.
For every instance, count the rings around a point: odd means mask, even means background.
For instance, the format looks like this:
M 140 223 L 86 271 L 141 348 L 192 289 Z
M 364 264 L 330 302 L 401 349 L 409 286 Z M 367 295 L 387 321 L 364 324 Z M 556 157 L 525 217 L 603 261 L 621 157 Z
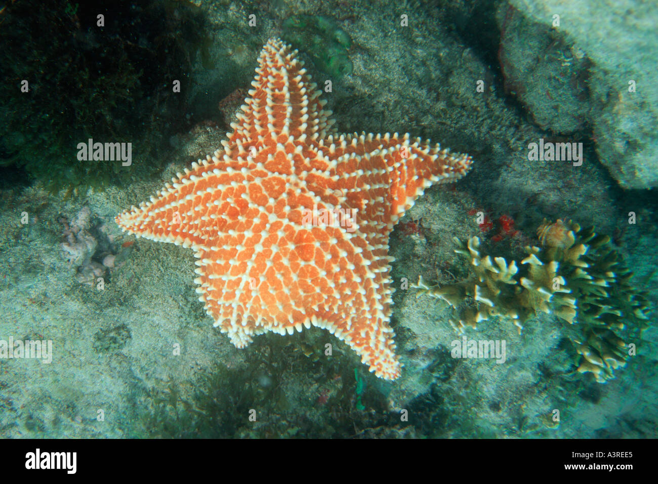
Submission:
M 0 437 L 657 437 L 657 27 L 640 0 L 0 2 Z M 390 236 L 395 381 L 315 327 L 235 348 L 192 252 L 114 222 L 221 146 L 276 37 L 339 132 L 474 160 Z

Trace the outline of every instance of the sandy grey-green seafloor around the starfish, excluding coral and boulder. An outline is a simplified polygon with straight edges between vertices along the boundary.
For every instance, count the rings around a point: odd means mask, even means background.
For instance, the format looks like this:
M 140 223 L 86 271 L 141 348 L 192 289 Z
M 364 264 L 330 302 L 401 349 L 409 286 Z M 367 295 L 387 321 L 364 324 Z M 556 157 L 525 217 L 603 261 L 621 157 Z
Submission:
M 474 157 L 467 177 L 430 188 L 405 215 L 403 222 L 422 219 L 420 234 L 399 227 L 393 233 L 396 281 L 436 278 L 452 267 L 453 236 L 483 235 L 468 213 L 484 209 L 492 219 L 513 217 L 529 239 L 544 217 L 573 219 L 613 235 L 635 283 L 655 306 L 655 190 L 619 188 L 591 141 L 580 167 L 528 161 L 528 144 L 550 134 L 505 95 L 499 71 L 475 43 L 445 24 L 447 16 L 423 3 L 395 9 L 346 4 L 272 3 L 260 12 L 257 34 L 243 21 L 249 6 L 204 4 L 222 26 L 215 33 L 216 54 L 233 49 L 238 67 L 222 73 L 218 66 L 206 75 L 230 78 L 234 88 L 248 86 L 261 45 L 279 34 L 284 18 L 327 14 L 343 19 L 338 23 L 353 41 L 352 74 L 324 95 L 341 132 L 410 132 Z M 399 26 L 405 12 L 413 27 Z M 309 71 L 319 84 L 322 74 L 312 65 Z M 474 93 L 477 79 L 486 81 L 485 92 Z M 417 298 L 413 289 L 394 296 L 392 325 L 405 363 L 394 382 L 376 379 L 345 344 L 320 329 L 270 333 L 243 350 L 234 348 L 197 300 L 191 250 L 126 236 L 113 221 L 199 155 L 212 153 L 223 136 L 210 129 L 182 133 L 161 176 L 101 193 L 63 201 L 39 184 L 3 188 L 0 338 L 43 337 L 54 348 L 49 364 L 0 360 L 0 437 L 658 436 L 655 325 L 645 331 L 638 356 L 605 384 L 592 375 L 563 375 L 570 363 L 553 315 L 528 321 L 522 335 L 509 321 L 469 330 L 469 338 L 505 339 L 504 364 L 455 360 L 449 348 L 457 336 L 447 304 Z M 62 216 L 72 221 L 84 207 L 91 214 L 86 230 L 115 254 L 135 241 L 123 263 L 108 269 L 104 290 L 80 282 L 79 266 L 61 250 Z M 629 211 L 637 214 L 634 225 L 628 224 Z M 326 342 L 334 346 L 330 358 L 322 354 Z M 543 416 L 555 408 L 561 422 L 550 428 Z M 250 409 L 257 410 L 255 422 L 248 419 Z M 409 410 L 408 421 L 401 420 L 401 409 Z

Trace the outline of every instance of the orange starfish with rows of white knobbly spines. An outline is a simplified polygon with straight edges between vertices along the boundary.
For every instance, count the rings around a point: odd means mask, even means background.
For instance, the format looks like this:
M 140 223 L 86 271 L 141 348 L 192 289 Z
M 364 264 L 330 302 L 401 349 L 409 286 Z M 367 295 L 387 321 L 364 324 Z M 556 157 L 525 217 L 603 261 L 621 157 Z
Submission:
M 296 53 L 268 41 L 223 149 L 116 223 L 194 250 L 199 300 L 238 348 L 316 326 L 395 379 L 388 236 L 472 160 L 408 134 L 336 134 Z

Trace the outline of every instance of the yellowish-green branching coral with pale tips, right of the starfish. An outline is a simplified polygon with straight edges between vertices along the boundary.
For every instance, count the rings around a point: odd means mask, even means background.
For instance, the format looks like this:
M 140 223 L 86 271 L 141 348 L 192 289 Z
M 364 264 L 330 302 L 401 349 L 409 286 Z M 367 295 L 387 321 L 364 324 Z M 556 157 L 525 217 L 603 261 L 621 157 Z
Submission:
M 627 344 L 647 327 L 647 300 L 630 284 L 632 273 L 611 248 L 608 236 L 561 220 L 538 229 L 542 248 L 527 246 L 527 257 L 507 262 L 482 255 L 480 239 L 457 242 L 471 275 L 465 281 L 430 286 L 420 278 L 420 294 L 442 298 L 457 311 L 451 324 L 463 332 L 479 321 L 499 316 L 521 331 L 538 312 L 554 313 L 578 329 L 572 337 L 578 371 L 599 382 L 614 378 L 626 364 Z

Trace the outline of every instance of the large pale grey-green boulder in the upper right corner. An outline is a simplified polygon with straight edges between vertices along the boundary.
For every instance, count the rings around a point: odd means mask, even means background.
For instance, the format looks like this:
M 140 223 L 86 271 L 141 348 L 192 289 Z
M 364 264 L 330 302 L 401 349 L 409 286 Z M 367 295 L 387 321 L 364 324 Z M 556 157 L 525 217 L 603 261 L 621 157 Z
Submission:
M 658 186 L 658 94 L 649 87 L 655 5 L 509 0 L 496 17 L 505 88 L 534 122 L 556 135 L 591 136 L 622 188 Z

